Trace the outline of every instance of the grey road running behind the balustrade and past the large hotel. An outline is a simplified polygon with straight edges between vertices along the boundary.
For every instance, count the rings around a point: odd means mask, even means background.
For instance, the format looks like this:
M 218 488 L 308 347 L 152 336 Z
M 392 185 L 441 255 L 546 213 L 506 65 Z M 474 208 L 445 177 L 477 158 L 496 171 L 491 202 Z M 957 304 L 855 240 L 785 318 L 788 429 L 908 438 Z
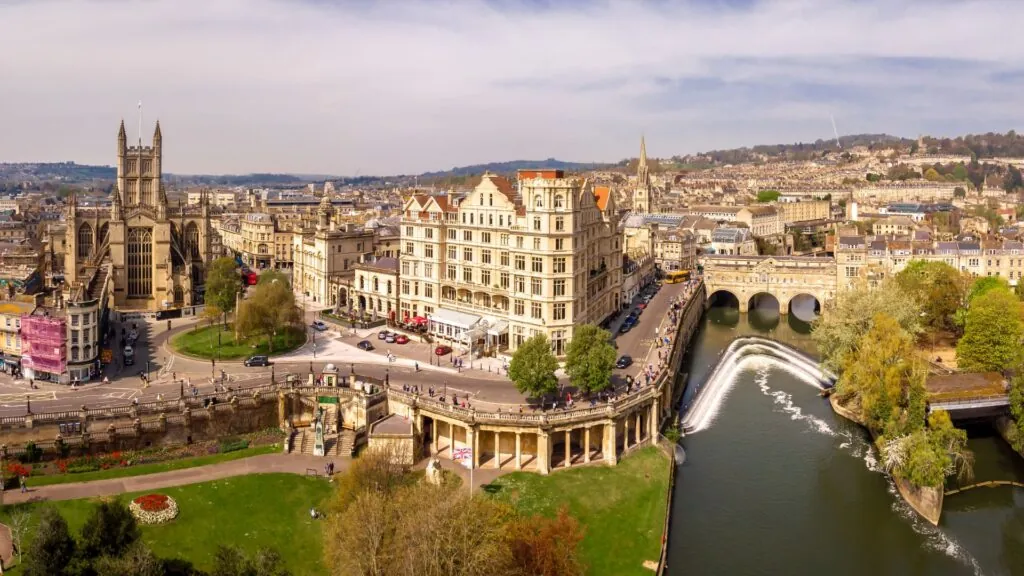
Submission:
M 665 285 L 640 316 L 637 326 L 626 334 L 617 333 L 626 314 L 612 323 L 610 328 L 618 354 L 628 354 L 635 361 L 627 370 L 615 370 L 612 382 L 616 388 L 625 386 L 627 374 L 635 377 L 642 370 L 643 359 L 654 342 L 654 329 L 665 320 L 672 300 L 682 291 L 682 285 Z M 636 302 L 631 307 L 635 305 Z M 312 321 L 312 313 L 307 313 L 307 320 Z M 227 385 L 234 388 L 268 382 L 271 371 L 279 381 L 283 381 L 288 373 L 304 379 L 310 371 L 319 374 L 329 363 L 335 364 L 342 376 L 354 370 L 359 375 L 387 378 L 392 386 L 419 385 L 423 392 L 430 386 L 441 392 L 446 387 L 449 395 L 454 393 L 460 398 L 468 397 L 476 405 L 512 408 L 526 404 L 525 398 L 501 373 L 501 361 L 486 359 L 470 363 L 467 360 L 466 367 L 460 371 L 452 367 L 449 357 L 443 357 L 440 366 L 435 366 L 430 364 L 437 360 L 430 344 L 385 344 L 377 339 L 375 331 L 364 331 L 360 335 L 341 335 L 334 330 L 317 333 L 315 352 L 310 339 L 299 349 L 274 358 L 272 367 L 247 368 L 241 361 L 218 361 L 214 367 L 209 361 L 175 355 L 167 345 L 169 336 L 191 329 L 195 322 L 173 320 L 170 331 L 167 321 L 138 320 L 127 322 L 125 327 L 118 326 L 119 334 L 132 324 L 138 330 L 136 362 L 134 366 L 122 366 L 118 353 L 115 363 L 108 367 L 110 381 L 106 383 L 92 382 L 78 388 L 38 383 L 37 388 L 30 389 L 27 381 L 15 381 L 0 375 L 0 415 L 25 414 L 30 403 L 32 411 L 39 413 L 77 410 L 83 405 L 90 408 L 123 405 L 134 399 L 140 402 L 156 400 L 158 395 L 174 399 L 183 388 L 187 394 L 188 384 L 201 392 L 212 390 L 211 377 L 219 377 L 221 371 L 227 376 Z M 365 352 L 356 348 L 354 344 L 364 338 L 371 340 L 377 349 Z M 388 349 L 397 357 L 393 363 L 389 363 L 385 356 Z M 146 386 L 140 375 L 146 373 L 147 364 L 151 384 Z M 561 381 L 567 385 L 564 375 Z

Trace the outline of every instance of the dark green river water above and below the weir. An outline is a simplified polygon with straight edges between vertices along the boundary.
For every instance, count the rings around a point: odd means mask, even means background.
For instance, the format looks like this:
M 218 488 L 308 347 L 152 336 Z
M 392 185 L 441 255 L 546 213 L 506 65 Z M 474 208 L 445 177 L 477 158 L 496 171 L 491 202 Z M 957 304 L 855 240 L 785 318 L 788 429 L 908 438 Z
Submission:
M 736 336 L 811 352 L 808 333 L 775 312 L 712 307 L 684 370 L 692 387 Z M 970 434 L 977 480 L 1024 481 L 1024 459 L 988 426 Z M 683 446 L 670 575 L 1024 575 L 1024 490 L 949 496 L 933 527 L 881 474 L 866 433 L 780 370 L 741 373 L 712 425 Z

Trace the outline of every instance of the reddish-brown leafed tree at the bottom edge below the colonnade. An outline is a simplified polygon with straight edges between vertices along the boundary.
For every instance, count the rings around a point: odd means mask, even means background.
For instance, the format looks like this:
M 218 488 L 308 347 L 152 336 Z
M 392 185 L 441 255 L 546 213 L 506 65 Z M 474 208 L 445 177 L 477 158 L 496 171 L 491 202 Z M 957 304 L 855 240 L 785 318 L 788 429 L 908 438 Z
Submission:
M 520 518 L 509 528 L 512 558 L 523 574 L 536 576 L 583 576 L 580 558 L 584 529 L 564 504 L 553 518 Z

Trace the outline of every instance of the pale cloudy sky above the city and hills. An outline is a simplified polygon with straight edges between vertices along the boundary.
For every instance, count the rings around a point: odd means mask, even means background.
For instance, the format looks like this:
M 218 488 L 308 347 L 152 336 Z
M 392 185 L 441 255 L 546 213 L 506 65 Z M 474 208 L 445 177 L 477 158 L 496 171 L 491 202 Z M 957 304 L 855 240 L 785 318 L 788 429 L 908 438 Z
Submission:
M 0 161 L 490 161 L 1024 128 L 1024 1 L 0 0 Z M 1018 24 L 1014 24 L 1018 23 Z

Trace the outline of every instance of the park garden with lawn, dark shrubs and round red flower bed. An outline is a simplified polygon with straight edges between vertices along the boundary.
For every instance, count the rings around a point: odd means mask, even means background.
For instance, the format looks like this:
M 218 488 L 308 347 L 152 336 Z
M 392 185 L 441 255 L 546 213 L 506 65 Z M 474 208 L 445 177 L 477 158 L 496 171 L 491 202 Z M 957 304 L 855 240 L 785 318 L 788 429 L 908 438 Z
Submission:
M 66 523 L 66 534 L 72 535 L 75 543 L 65 547 L 65 556 L 89 557 L 96 546 L 90 540 L 103 535 L 104 539 L 129 531 L 119 530 L 126 526 L 126 519 L 118 517 L 120 508 L 130 512 L 137 529 L 137 541 L 145 548 L 140 554 L 124 542 L 116 550 L 119 558 L 87 558 L 93 568 L 113 566 L 114 561 L 135 562 L 139 558 L 159 559 L 164 566 L 173 565 L 177 571 L 165 568 L 159 573 L 188 574 L 182 567 L 215 574 L 283 574 L 287 570 L 295 575 L 324 574 L 323 536 L 319 521 L 309 517 L 309 508 L 322 506 L 331 493 L 331 484 L 321 478 L 302 477 L 291 474 L 259 474 L 230 479 L 191 484 L 161 489 L 159 493 L 143 492 L 124 494 L 114 498 L 61 500 L 56 502 L 30 502 L 4 506 L 0 509 L 0 522 L 8 526 L 25 525 L 20 548 L 25 550 L 25 568 L 33 562 L 29 556 L 39 551 L 34 540 L 40 534 L 48 534 L 40 525 L 46 522 L 47 508 L 55 508 Z M 112 504 L 119 504 L 114 506 Z M 106 506 L 106 516 L 115 521 L 96 523 L 97 508 Z M 113 509 L 113 511 L 112 511 Z M 20 520 L 19 520 L 20 518 Z M 52 523 L 51 523 L 52 524 Z M 93 528 L 90 529 L 90 526 Z M 96 527 L 101 530 L 95 530 Z M 77 536 L 77 537 L 76 537 Z M 52 536 L 50 536 L 52 537 Z M 120 536 L 119 536 L 120 537 Z M 68 541 L 68 536 L 63 541 Z M 133 538 L 134 539 L 134 538 Z M 123 538 L 122 538 L 123 540 Z M 225 551 L 221 546 L 229 546 Z M 50 546 L 50 549 L 58 546 Z M 71 550 L 68 550 L 71 548 Z M 110 547 L 101 547 L 110 556 Z M 225 572 L 221 568 L 225 556 L 248 559 L 248 564 L 258 564 L 266 550 L 273 550 L 273 572 L 242 570 Z M 44 553 L 45 552 L 40 552 Z M 52 560 L 52 559 L 51 559 Z M 75 563 L 72 563 L 75 564 Z M 238 563 L 226 563 L 234 564 Z M 246 562 L 242 563 L 243 565 Z M 63 565 L 59 565 L 61 568 Z M 138 568 L 133 568 L 138 570 Z M 111 572 L 99 574 L 127 573 Z M 5 571 L 8 572 L 8 571 Z M 10 574 L 23 574 L 22 567 L 10 570 Z M 65 574 L 67 572 L 52 572 Z M 151 572 L 131 572 L 145 573 Z

